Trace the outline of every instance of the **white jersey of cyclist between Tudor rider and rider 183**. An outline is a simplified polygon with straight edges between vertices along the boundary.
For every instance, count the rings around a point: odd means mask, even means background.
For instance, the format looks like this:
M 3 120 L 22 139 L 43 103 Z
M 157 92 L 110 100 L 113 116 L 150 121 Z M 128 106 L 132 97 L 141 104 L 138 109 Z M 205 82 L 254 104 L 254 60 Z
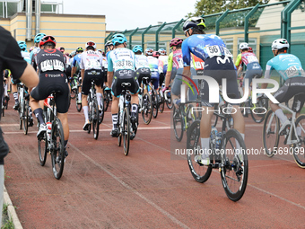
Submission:
M 96 69 L 102 67 L 102 56 L 99 51 L 88 50 L 83 52 L 81 56 L 80 68 L 84 70 Z

